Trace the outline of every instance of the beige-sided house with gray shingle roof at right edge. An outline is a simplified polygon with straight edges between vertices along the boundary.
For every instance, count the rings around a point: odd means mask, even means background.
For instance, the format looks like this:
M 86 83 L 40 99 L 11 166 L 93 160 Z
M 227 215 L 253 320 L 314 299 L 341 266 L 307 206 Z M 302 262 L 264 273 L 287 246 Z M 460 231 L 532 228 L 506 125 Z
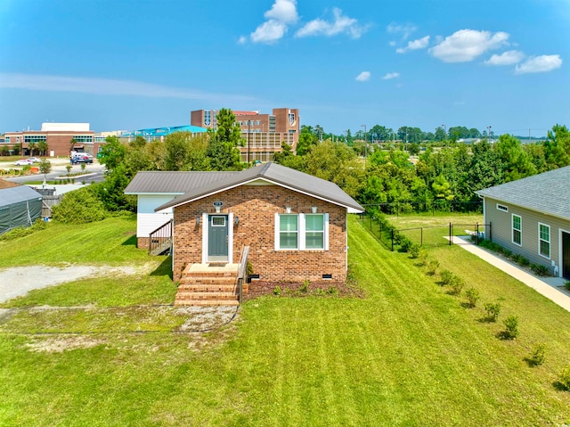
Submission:
M 570 279 L 570 166 L 476 192 L 493 242 Z

